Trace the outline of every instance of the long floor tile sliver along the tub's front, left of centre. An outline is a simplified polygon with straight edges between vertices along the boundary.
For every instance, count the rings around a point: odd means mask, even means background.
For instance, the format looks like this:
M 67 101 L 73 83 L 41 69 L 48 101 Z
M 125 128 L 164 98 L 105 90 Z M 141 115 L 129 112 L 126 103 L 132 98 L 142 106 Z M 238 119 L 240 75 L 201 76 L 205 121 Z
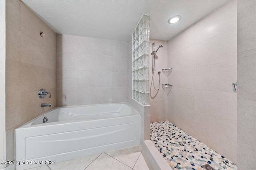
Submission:
M 84 170 L 90 163 L 92 163 L 100 154 L 94 154 L 82 158 L 58 162 L 49 165 L 52 170 Z M 40 169 L 41 170 L 41 169 Z

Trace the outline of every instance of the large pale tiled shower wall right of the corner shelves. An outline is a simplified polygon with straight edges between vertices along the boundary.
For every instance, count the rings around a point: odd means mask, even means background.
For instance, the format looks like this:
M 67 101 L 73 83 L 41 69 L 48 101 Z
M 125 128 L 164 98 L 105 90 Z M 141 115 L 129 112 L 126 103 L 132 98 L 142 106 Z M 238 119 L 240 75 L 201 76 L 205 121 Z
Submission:
M 168 120 L 234 163 L 236 23 L 237 2 L 231 1 L 168 41 Z

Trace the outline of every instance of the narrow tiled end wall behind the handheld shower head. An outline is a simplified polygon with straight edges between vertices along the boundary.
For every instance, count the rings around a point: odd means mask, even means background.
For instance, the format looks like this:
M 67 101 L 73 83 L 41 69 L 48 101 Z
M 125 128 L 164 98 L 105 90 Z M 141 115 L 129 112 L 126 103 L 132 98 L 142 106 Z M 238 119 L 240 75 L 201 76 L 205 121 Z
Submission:
M 149 56 L 149 86 L 150 86 L 150 117 L 151 122 L 165 121 L 168 119 L 168 96 L 162 88 L 162 84 L 168 84 L 168 77 L 162 72 L 162 68 L 168 68 L 168 41 L 161 41 L 156 39 L 150 39 L 150 53 L 152 52 L 152 43 L 155 42 L 155 50 L 159 45 L 164 45 L 156 53 L 155 59 L 155 72 L 154 72 L 154 83 L 155 87 L 158 88 L 158 71 L 160 74 L 160 88 L 158 91 L 154 89 L 152 83 L 152 55 Z M 170 76 L 170 75 L 169 75 Z

